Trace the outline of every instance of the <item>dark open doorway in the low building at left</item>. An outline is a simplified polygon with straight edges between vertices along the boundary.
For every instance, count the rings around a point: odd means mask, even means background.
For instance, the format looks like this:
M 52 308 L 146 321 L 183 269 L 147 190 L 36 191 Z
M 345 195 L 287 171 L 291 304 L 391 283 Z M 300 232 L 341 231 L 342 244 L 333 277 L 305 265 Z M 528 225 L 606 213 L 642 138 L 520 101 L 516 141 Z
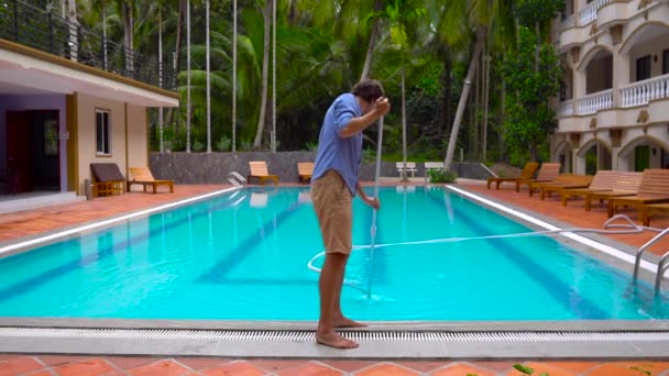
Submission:
M 58 126 L 57 110 L 7 113 L 11 193 L 61 190 Z

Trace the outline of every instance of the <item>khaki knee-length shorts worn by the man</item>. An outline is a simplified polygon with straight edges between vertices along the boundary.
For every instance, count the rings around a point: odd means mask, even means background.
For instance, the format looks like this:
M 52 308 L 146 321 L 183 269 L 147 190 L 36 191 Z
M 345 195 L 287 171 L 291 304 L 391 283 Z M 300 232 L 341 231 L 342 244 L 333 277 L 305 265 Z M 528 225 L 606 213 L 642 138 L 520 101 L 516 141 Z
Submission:
M 334 169 L 329 169 L 311 184 L 311 201 L 327 253 L 351 253 L 352 199 L 343 178 Z

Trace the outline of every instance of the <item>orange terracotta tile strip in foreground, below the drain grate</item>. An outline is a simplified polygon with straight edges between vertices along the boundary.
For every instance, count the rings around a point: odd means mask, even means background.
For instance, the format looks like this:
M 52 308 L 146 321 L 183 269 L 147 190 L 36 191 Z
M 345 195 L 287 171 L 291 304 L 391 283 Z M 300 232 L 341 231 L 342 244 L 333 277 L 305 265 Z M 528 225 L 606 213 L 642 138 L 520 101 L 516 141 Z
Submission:
M 668 362 L 374 362 L 1 355 L 0 375 L 520 376 L 514 364 L 549 376 L 667 376 Z

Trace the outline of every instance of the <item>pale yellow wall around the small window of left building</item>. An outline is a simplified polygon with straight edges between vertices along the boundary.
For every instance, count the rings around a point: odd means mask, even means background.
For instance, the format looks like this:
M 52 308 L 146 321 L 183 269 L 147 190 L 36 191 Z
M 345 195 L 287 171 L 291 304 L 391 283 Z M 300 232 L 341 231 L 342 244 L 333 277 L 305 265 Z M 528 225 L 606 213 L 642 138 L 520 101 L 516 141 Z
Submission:
M 78 193 L 85 195 L 83 184 L 91 179 L 91 163 L 116 163 L 128 178 L 128 163 L 149 166 L 146 153 L 146 108 L 77 93 Z M 111 155 L 96 154 L 96 110 L 109 111 Z M 128 109 L 128 113 L 127 113 Z M 125 137 L 125 119 L 128 134 Z M 128 142 L 128 150 L 127 150 Z

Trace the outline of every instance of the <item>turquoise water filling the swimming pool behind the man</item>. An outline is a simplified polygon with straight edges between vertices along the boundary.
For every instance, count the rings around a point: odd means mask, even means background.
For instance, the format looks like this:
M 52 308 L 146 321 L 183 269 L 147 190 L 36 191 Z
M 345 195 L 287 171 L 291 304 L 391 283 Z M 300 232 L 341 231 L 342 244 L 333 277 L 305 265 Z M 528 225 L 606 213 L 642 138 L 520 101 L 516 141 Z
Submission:
M 527 228 L 441 189 L 382 188 L 376 243 Z M 372 210 L 354 201 L 353 243 Z M 316 320 L 322 251 L 308 188 L 248 189 L 0 259 L 0 316 Z M 321 264 L 319 259 L 317 264 Z M 550 237 L 354 251 L 360 320 L 667 319 L 647 284 Z M 371 294 L 368 294 L 371 292 Z

